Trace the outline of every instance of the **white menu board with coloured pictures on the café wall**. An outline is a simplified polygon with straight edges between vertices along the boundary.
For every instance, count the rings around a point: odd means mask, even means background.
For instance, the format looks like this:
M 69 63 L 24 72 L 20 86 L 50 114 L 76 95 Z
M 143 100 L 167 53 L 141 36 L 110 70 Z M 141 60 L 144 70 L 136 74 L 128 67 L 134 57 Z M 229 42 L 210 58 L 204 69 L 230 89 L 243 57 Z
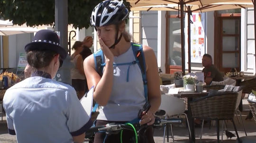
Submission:
M 201 63 L 205 54 L 205 13 L 193 12 L 191 20 L 191 62 Z

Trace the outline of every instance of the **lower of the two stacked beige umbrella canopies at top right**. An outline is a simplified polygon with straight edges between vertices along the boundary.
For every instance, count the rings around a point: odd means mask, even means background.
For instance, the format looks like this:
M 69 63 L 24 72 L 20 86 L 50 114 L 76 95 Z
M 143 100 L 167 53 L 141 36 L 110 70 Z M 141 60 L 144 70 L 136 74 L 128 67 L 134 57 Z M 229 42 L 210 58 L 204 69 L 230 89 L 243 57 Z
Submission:
M 190 6 L 192 12 L 198 11 L 198 12 L 207 12 L 207 11 L 215 11 L 215 10 L 223 10 L 223 9 L 235 9 L 235 8 L 253 8 L 253 3 L 245 3 L 245 2 L 219 2 L 219 3 L 213 3 L 206 6 L 199 6 L 199 5 L 190 5 L 187 4 L 186 7 L 184 7 L 184 11 L 187 10 L 187 7 Z M 179 10 L 179 7 L 177 4 L 168 4 L 168 5 L 156 5 L 156 6 L 146 6 L 146 7 L 136 7 L 131 8 L 131 10 L 162 10 L 162 11 L 177 11 Z

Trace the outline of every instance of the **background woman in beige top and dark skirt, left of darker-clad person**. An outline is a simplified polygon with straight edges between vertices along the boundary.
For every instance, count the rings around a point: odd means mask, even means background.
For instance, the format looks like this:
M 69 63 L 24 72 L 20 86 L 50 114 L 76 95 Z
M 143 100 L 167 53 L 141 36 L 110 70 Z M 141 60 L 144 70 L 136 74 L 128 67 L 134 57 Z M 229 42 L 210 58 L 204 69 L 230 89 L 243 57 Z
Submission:
M 82 42 L 76 41 L 73 44 L 72 50 L 74 53 L 71 55 L 73 58 L 72 62 L 75 64 L 75 68 L 71 69 L 72 86 L 74 87 L 78 99 L 81 99 L 87 89 L 86 78 L 83 71 L 83 59 L 80 54 L 82 51 Z

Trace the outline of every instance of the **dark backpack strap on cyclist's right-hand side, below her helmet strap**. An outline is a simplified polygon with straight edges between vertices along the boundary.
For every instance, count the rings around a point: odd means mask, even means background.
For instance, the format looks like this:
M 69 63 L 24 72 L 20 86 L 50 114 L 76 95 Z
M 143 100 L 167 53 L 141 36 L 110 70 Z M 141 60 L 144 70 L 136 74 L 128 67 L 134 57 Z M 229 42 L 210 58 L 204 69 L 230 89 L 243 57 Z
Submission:
M 132 43 L 132 50 L 133 50 L 135 59 L 138 60 L 138 66 L 141 70 L 142 79 L 144 83 L 145 99 L 147 101 L 146 63 L 145 63 L 145 57 L 144 57 L 142 45 L 137 43 Z

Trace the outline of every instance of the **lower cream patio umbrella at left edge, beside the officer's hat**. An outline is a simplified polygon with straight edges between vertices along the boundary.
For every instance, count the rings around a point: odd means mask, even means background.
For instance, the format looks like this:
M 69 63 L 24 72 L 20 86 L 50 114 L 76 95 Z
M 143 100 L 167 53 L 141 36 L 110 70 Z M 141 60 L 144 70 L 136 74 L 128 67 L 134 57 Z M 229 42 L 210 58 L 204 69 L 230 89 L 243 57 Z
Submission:
M 9 36 L 14 34 L 24 34 L 24 33 L 34 33 L 40 29 L 31 27 L 21 27 L 21 28 L 0 28 L 0 35 Z

